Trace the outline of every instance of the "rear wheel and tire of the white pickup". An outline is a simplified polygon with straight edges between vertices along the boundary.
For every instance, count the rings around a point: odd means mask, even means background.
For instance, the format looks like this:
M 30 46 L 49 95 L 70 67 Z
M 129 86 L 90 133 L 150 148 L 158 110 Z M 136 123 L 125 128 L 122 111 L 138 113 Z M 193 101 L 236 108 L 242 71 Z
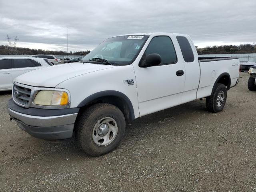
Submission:
M 223 97 L 222 97 L 223 96 Z M 206 97 L 206 108 L 210 112 L 220 112 L 227 100 L 227 89 L 224 84 L 217 83 L 211 96 Z

